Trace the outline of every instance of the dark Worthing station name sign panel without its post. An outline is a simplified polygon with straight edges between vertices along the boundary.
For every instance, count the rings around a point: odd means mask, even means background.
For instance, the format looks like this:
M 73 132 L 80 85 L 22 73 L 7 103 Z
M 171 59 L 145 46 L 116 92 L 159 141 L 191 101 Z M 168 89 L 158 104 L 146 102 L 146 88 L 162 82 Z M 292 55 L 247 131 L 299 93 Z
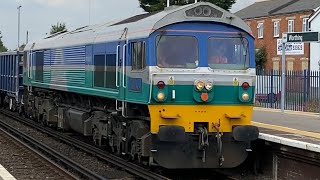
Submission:
M 319 32 L 283 33 L 282 40 L 287 42 L 320 42 Z

